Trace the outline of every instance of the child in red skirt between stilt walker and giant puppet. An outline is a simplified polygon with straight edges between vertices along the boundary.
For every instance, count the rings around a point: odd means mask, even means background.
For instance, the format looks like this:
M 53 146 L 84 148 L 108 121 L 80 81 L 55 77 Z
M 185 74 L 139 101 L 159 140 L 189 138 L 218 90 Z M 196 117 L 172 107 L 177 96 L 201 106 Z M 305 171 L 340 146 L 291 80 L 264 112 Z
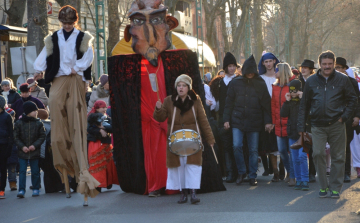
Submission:
M 100 182 L 98 190 L 119 185 L 109 134 L 112 133 L 111 118 L 107 117 L 106 109 L 106 103 L 98 100 L 88 115 L 89 172 Z

